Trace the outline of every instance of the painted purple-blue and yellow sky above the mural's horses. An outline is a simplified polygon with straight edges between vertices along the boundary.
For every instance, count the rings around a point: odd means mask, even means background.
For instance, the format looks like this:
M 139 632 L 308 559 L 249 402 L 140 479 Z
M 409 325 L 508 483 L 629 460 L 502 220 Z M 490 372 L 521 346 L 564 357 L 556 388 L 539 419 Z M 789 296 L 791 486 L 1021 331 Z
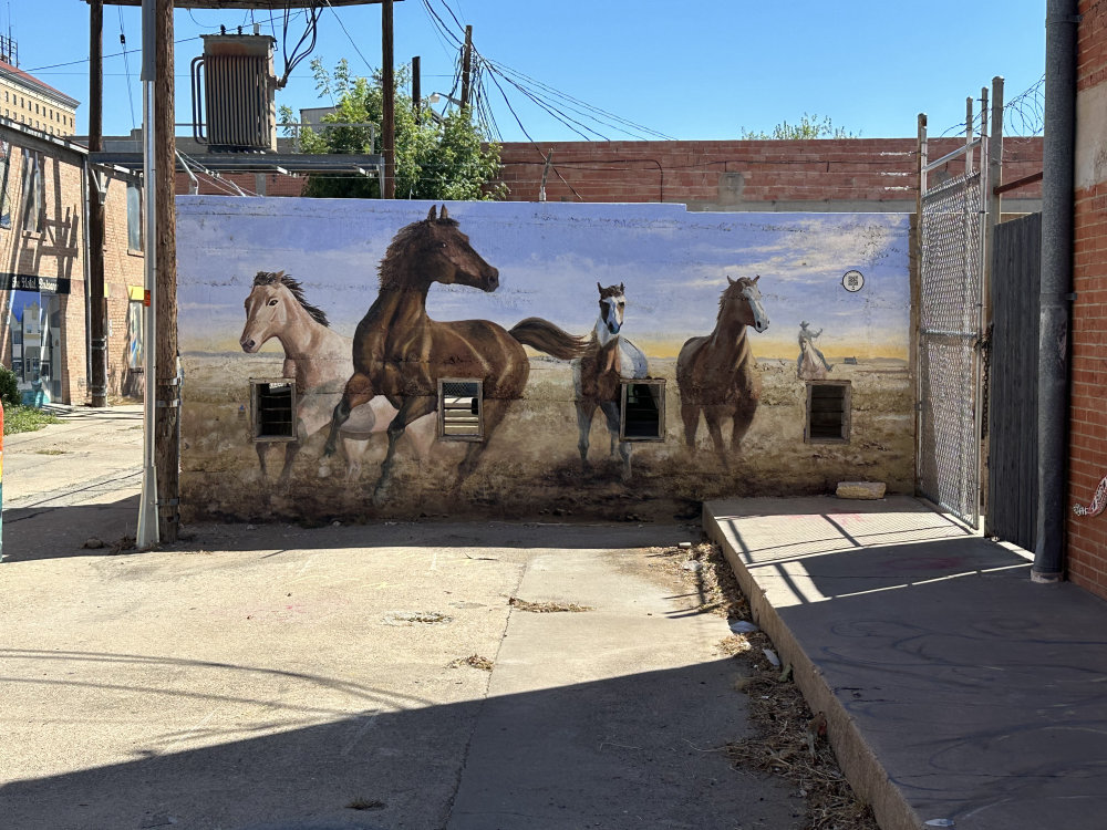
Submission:
M 180 346 L 239 351 L 242 302 L 259 270 L 303 283 L 350 335 L 376 297 L 393 235 L 432 203 L 183 196 L 177 199 Z M 434 286 L 436 320 L 510 328 L 541 315 L 571 332 L 596 321 L 596 283 L 627 287 L 624 333 L 675 356 L 715 322 L 726 278 L 761 274 L 772 326 L 752 338 L 763 357 L 794 359 L 801 321 L 824 329 L 828 356 L 907 357 L 909 217 L 901 214 L 708 214 L 683 205 L 453 203 L 473 247 L 499 269 L 488 294 Z M 849 270 L 861 291 L 842 288 Z M 278 351 L 277 343 L 267 350 Z

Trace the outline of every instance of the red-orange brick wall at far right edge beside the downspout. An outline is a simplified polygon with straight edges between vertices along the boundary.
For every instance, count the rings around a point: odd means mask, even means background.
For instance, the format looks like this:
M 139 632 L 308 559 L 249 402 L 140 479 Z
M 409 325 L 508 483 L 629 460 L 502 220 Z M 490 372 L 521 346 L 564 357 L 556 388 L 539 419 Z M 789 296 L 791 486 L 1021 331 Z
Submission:
M 1090 102 L 1104 92 L 1095 87 L 1107 84 L 1107 12 L 1089 0 L 1079 10 L 1077 94 Z M 1077 112 L 1082 118 L 1097 115 L 1079 104 Z M 1068 492 L 1069 501 L 1087 505 L 1107 475 L 1107 180 L 1080 184 L 1074 216 Z M 1107 596 L 1107 513 L 1069 515 L 1067 531 L 1069 579 Z

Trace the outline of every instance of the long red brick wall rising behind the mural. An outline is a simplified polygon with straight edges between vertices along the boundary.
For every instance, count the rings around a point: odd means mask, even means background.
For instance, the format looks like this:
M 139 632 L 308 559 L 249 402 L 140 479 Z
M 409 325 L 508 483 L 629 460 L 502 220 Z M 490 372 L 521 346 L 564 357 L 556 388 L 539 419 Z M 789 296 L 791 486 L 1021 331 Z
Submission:
M 930 141 L 930 157 L 960 138 Z M 548 201 L 676 201 L 721 210 L 765 210 L 794 203 L 913 203 L 913 138 L 728 142 L 561 142 L 504 144 L 501 180 L 513 200 L 537 200 L 545 166 Z M 946 165 L 955 174 L 958 162 Z M 960 160 L 963 169 L 964 160 Z M 1004 180 L 1042 170 L 1039 137 L 1004 139 Z M 946 169 L 932 175 L 948 175 Z M 1032 185 L 1006 199 L 1041 198 Z

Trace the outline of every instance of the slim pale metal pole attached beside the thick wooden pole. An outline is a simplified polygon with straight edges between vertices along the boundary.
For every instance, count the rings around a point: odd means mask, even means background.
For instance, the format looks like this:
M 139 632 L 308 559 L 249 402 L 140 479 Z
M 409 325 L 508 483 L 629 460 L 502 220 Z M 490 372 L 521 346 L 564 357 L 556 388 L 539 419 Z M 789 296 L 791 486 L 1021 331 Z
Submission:
M 156 227 L 154 177 L 154 0 L 142 0 L 142 135 L 143 135 L 143 239 L 145 240 L 146 290 L 143 300 L 143 476 L 142 500 L 138 504 L 138 530 L 135 544 L 139 550 L 158 542 L 157 536 L 157 469 L 154 466 L 154 417 L 157 374 L 157 248 L 153 245 Z

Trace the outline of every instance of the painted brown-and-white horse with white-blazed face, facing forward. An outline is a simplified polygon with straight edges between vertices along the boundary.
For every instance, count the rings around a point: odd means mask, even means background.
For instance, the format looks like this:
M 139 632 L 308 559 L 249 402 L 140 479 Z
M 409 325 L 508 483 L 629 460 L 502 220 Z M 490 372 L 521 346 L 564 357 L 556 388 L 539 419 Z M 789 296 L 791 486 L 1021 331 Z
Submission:
M 587 471 L 588 438 L 592 430 L 592 417 L 597 408 L 603 413 L 611 436 L 611 455 L 623 463 L 623 479 L 630 478 L 631 445 L 619 440 L 619 406 L 622 396 L 622 381 L 648 377 L 650 367 L 645 355 L 637 345 L 622 336 L 623 312 L 627 309 L 625 288 L 604 288 L 599 282 L 600 314 L 592 328 L 588 350 L 572 362 L 572 384 L 577 393 L 577 449 L 580 465 Z

